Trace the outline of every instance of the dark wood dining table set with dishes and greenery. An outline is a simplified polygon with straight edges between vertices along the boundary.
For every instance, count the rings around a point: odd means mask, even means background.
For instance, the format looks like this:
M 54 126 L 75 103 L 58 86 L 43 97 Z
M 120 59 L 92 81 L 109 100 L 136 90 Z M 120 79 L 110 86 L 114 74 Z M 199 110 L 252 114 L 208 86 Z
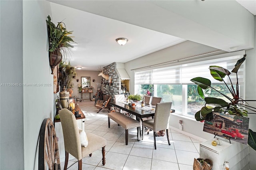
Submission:
M 154 117 L 155 115 L 155 110 L 156 110 L 156 105 L 145 105 L 142 107 L 140 104 L 137 104 L 136 106 L 130 106 L 128 105 L 129 102 L 126 101 L 112 101 L 110 102 L 110 105 L 117 107 L 119 109 L 122 109 L 123 111 L 126 111 L 132 115 L 135 115 L 136 120 L 139 122 L 142 122 L 142 118 L 146 117 Z M 170 113 L 174 113 L 175 110 L 171 109 Z M 141 130 L 140 127 L 138 128 L 137 132 L 138 136 L 138 141 L 141 140 Z

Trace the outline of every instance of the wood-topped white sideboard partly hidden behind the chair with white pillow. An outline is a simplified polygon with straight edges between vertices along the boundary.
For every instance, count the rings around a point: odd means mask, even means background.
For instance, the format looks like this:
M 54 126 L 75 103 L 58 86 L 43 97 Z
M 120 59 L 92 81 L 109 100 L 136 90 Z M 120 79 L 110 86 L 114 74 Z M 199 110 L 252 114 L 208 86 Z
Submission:
M 77 103 L 75 103 L 75 109 L 76 111 L 79 111 L 79 114 L 81 114 L 81 117 L 76 118 L 77 126 L 81 129 L 84 130 L 84 121 L 85 121 L 85 116 L 80 107 L 78 106 Z M 73 110 L 74 113 L 75 110 Z M 64 147 L 64 138 L 63 138 L 63 132 L 62 132 L 62 126 L 60 120 L 55 120 L 54 121 L 54 128 L 56 132 L 56 136 L 58 138 L 58 147 L 59 147 L 59 154 L 60 154 L 60 162 L 65 161 L 65 147 Z M 68 157 L 69 160 L 74 159 L 74 156 L 69 154 Z

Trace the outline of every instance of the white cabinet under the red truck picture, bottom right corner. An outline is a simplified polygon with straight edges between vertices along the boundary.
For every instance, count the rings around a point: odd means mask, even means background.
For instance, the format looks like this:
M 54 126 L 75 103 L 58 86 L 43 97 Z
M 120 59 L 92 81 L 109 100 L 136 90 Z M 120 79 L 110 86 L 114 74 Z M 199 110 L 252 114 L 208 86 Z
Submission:
M 247 145 L 232 140 L 230 144 L 221 140 L 222 145 L 212 146 L 212 140 L 214 138 L 200 144 L 200 158 L 212 160 L 212 170 L 222 170 L 224 161 L 229 162 L 230 170 L 249 170 Z

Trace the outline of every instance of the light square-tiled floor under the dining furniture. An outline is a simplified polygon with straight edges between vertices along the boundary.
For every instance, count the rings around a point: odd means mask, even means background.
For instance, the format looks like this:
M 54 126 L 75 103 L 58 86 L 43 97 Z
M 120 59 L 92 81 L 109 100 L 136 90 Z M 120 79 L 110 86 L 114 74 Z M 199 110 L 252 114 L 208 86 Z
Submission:
M 153 133 L 145 133 L 144 140 L 137 140 L 137 128 L 129 129 L 128 145 L 125 145 L 125 129 L 111 121 L 108 128 L 108 112 L 96 113 L 93 101 L 78 102 L 86 116 L 85 131 L 107 140 L 106 164 L 102 165 L 101 150 L 92 157 L 82 159 L 82 169 L 88 170 L 192 170 L 194 158 L 199 158 L 200 141 L 170 129 L 168 145 L 166 135 L 156 137 L 154 149 Z M 110 119 L 111 120 L 111 119 Z M 76 160 L 70 160 L 68 166 Z M 64 162 L 61 163 L 64 168 Z M 77 170 L 78 163 L 70 170 Z

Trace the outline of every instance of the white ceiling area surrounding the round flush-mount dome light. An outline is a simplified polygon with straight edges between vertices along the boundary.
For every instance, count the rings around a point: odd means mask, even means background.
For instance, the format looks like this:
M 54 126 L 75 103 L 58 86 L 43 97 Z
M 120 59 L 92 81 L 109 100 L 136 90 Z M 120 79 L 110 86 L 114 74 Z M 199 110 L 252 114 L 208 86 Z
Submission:
M 82 67 L 82 70 L 98 70 L 99 67 L 104 67 L 113 62 L 124 63 L 186 41 L 186 39 L 171 36 L 170 34 L 164 34 L 152 29 L 128 24 L 128 22 L 104 17 L 104 11 L 109 10 L 106 4 L 113 4 L 117 1 L 95 4 L 94 6 L 88 6 L 88 3 L 94 4 L 93 1 L 50 1 L 58 3 L 51 3 L 52 21 L 55 24 L 63 21 L 68 31 L 74 31 L 72 36 L 74 36 L 73 39 L 77 44 L 74 44 L 75 47 L 72 49 L 70 63 L 75 67 Z M 245 6 L 244 2 L 243 6 Z M 254 3 L 256 0 L 246 1 L 246 4 L 252 4 L 252 2 Z M 200 3 L 204 3 L 204 1 L 200 1 Z M 65 6 L 60 4 L 64 4 Z M 109 7 L 111 6 L 109 5 Z M 149 7 L 151 8 L 152 6 Z M 252 7 L 252 5 L 249 7 Z M 94 11 L 94 8 L 97 8 L 100 14 L 89 13 Z M 104 11 L 100 10 L 101 8 Z M 89 12 L 85 12 L 84 10 Z M 149 10 L 154 11 L 154 9 Z M 143 9 L 140 11 L 143 13 Z M 132 11 L 121 10 L 119 12 L 129 15 Z M 122 37 L 128 39 L 126 45 L 123 46 L 115 41 L 116 38 Z

